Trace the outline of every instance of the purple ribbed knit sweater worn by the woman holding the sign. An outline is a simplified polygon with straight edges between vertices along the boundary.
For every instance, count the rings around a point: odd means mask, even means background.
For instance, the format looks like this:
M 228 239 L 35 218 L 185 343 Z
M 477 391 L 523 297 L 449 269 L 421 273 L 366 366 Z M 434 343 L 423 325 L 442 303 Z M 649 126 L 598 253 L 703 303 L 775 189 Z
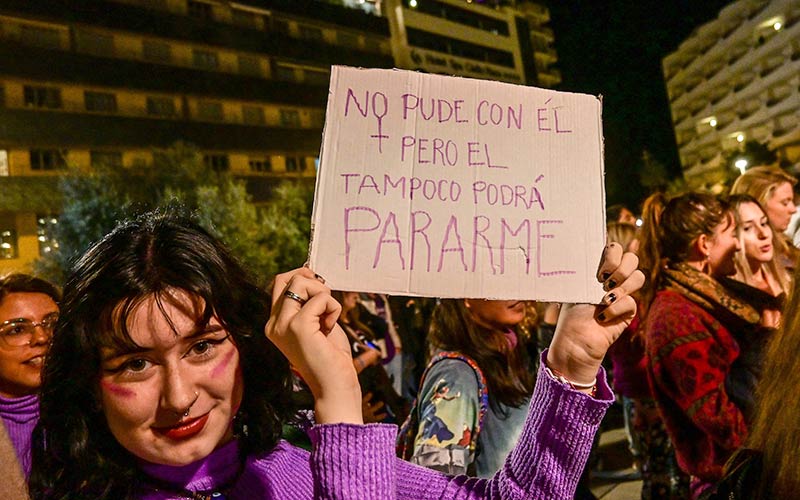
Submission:
M 179 493 L 184 488 L 211 492 L 233 483 L 223 488 L 229 499 L 571 499 L 613 402 L 605 380 L 601 370 L 592 399 L 540 371 L 519 443 L 492 479 L 447 476 L 397 459 L 393 425 L 335 424 L 310 430 L 310 454 L 282 441 L 248 457 L 241 473 L 236 442 L 183 467 L 145 464 L 143 472 L 159 486 L 140 497 L 186 498 Z

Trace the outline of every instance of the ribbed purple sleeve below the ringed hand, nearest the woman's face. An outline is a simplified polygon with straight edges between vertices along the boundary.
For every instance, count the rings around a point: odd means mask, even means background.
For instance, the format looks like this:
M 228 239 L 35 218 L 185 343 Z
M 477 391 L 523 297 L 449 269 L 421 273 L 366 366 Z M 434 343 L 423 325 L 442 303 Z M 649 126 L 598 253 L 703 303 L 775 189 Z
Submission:
M 323 424 L 308 431 L 314 498 L 395 498 L 397 426 Z

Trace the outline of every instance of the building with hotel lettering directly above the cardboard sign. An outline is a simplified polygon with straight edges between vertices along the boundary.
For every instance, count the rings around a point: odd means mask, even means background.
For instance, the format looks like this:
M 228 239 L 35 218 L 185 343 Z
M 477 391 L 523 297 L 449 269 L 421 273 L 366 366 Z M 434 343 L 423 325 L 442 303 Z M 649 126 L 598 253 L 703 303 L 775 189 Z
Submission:
M 549 10 L 534 2 L 383 0 L 398 67 L 521 85 L 561 81 Z M 509 2 L 504 2 L 509 3 Z

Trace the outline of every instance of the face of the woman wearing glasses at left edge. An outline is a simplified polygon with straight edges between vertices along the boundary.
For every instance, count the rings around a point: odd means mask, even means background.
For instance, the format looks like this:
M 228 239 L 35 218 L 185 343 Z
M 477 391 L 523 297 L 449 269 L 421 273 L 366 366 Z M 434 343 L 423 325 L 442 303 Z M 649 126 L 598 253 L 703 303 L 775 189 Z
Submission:
M 58 305 L 44 293 L 12 292 L 0 302 L 0 396 L 36 393 Z

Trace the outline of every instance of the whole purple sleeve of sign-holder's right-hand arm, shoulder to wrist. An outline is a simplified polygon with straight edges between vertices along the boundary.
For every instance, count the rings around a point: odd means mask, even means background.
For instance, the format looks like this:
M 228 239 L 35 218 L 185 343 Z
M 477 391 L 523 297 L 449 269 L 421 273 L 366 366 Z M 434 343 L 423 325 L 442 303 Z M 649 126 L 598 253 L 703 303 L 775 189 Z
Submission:
M 546 355 L 545 351 L 542 356 Z M 594 435 L 614 401 L 602 368 L 597 382 L 595 399 L 552 379 L 540 368 L 520 440 L 492 479 L 447 476 L 397 460 L 397 498 L 573 498 Z

